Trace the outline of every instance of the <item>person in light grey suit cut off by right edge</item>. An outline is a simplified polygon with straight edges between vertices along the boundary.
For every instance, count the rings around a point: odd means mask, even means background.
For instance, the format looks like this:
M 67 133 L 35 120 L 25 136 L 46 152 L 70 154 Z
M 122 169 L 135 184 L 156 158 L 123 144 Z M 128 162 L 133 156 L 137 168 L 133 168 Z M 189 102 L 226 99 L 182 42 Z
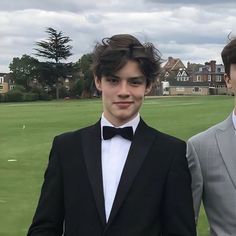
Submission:
M 236 95 L 236 38 L 221 56 L 225 82 Z M 188 140 L 187 159 L 196 223 L 202 200 L 210 235 L 236 235 L 236 103 L 226 120 Z

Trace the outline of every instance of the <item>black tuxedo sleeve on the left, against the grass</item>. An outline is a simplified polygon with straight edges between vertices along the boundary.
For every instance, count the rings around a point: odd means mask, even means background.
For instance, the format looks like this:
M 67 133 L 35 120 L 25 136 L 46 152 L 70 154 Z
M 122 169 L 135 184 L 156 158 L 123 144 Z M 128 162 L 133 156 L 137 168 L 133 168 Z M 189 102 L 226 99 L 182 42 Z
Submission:
M 61 236 L 64 221 L 62 173 L 53 141 L 38 206 L 27 236 Z

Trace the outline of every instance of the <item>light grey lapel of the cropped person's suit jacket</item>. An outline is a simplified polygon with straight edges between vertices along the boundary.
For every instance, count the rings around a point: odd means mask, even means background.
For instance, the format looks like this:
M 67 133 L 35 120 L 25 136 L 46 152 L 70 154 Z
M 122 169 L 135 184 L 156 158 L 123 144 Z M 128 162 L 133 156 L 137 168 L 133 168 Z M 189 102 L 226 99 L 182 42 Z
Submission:
M 231 120 L 226 120 L 226 124 L 227 122 L 232 123 Z M 233 123 L 228 124 L 225 130 L 217 130 L 216 139 L 228 173 L 236 188 L 236 136 Z

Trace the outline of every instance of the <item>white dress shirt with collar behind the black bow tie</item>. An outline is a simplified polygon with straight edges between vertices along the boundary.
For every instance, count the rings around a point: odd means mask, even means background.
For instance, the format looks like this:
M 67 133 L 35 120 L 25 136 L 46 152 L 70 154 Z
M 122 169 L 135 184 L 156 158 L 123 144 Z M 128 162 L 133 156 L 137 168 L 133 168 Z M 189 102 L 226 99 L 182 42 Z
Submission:
M 135 132 L 139 121 L 140 115 L 138 114 L 133 120 L 116 128 L 132 126 L 133 132 Z M 101 134 L 103 126 L 114 127 L 102 114 Z M 119 135 L 116 135 L 108 140 L 104 140 L 102 135 L 102 177 L 107 221 L 109 219 L 109 215 L 111 212 L 113 201 L 115 199 L 117 187 L 120 182 L 120 177 L 127 159 L 130 145 L 131 141 L 124 139 Z

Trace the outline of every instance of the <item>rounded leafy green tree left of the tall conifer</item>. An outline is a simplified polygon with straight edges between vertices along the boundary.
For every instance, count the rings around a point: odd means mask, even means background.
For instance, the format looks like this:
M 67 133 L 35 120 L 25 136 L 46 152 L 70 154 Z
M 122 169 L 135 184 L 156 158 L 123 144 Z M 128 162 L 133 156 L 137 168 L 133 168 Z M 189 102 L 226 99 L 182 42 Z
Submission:
M 16 84 L 24 86 L 27 90 L 30 89 L 33 79 L 39 77 L 39 61 L 26 54 L 21 58 L 14 57 L 9 68 Z

